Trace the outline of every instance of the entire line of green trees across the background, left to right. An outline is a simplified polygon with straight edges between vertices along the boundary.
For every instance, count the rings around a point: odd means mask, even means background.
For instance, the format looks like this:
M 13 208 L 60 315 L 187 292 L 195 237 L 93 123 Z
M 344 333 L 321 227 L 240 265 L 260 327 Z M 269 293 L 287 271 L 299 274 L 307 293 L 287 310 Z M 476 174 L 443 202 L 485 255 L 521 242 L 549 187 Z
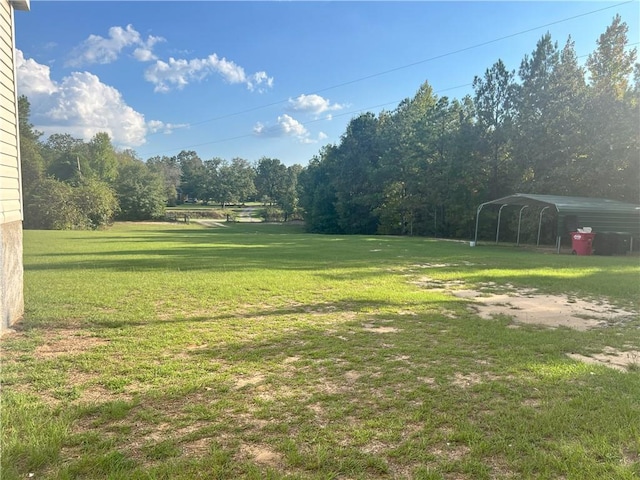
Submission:
M 473 95 L 428 82 L 391 111 L 353 118 L 308 165 L 263 157 L 202 160 L 195 151 L 139 159 L 106 133 L 45 142 L 20 98 L 25 228 L 97 228 L 188 200 L 259 200 L 317 233 L 468 238 L 476 207 L 512 193 L 640 199 L 640 66 L 620 16 L 585 67 L 569 38 L 545 34 L 509 70 L 498 60 Z M 631 81 L 633 78 L 633 81 Z

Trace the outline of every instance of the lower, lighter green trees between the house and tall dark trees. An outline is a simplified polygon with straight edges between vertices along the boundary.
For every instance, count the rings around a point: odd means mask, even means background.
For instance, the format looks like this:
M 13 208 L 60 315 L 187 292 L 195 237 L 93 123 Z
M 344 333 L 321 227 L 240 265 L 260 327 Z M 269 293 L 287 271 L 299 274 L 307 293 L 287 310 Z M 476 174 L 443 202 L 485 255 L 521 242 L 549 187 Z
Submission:
M 278 159 L 255 164 L 242 158 L 202 160 L 195 151 L 142 161 L 117 150 L 100 132 L 85 142 L 69 134 L 41 132 L 29 123 L 29 100 L 18 99 L 20 153 L 27 229 L 95 229 L 113 220 L 162 218 L 179 203 L 229 204 L 259 200 L 270 218 L 298 211 L 300 165 Z M 277 206 L 277 209 L 275 208 Z

